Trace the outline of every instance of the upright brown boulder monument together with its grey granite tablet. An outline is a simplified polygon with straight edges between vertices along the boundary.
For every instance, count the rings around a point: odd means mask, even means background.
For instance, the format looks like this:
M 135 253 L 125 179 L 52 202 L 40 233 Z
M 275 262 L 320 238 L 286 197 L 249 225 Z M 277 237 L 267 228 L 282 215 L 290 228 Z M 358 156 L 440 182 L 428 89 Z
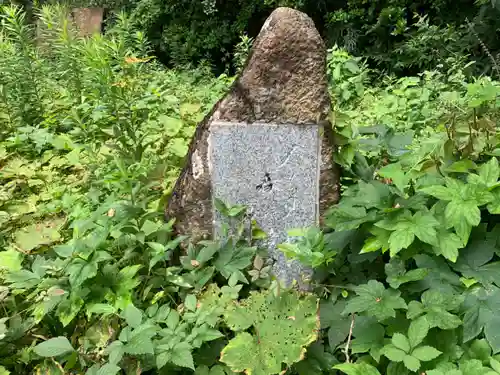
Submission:
M 329 109 L 326 49 L 313 21 L 276 9 L 246 67 L 196 129 L 166 208 L 176 231 L 211 237 L 221 224 L 214 198 L 244 204 L 268 235 L 276 276 L 301 283 L 308 271 L 276 245 L 338 200 Z

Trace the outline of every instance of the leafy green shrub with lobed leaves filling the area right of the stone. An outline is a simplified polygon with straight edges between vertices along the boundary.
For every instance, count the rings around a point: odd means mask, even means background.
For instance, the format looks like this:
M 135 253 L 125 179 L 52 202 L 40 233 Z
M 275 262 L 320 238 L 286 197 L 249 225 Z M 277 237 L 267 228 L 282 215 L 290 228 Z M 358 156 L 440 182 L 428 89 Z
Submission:
M 359 131 L 345 139 L 359 147 L 352 163 L 340 159 L 350 172 L 342 199 L 327 214 L 322 246 L 307 240 L 302 244 L 309 246 L 291 253 L 316 261 L 309 264 L 317 268 L 317 292 L 326 297 L 319 351 L 334 353 L 344 362 L 334 369 L 348 375 L 500 369 L 500 83 L 468 81 L 462 69 L 422 78 L 415 86 L 405 85 L 408 77 L 365 95 L 372 107 L 378 100 L 418 98 L 418 108 L 431 106 L 436 116 L 422 116 L 425 124 L 405 107 L 386 124 L 367 123 L 368 129 L 346 116 L 344 126 L 357 124 Z M 413 95 L 414 87 L 432 85 L 441 87 L 439 95 Z M 350 113 L 349 106 L 340 101 L 338 109 Z M 405 125 L 396 125 L 400 121 Z M 405 142 L 401 130 L 413 132 Z M 333 262 L 320 256 L 326 251 L 336 252 Z M 316 373 L 329 371 L 319 366 Z

